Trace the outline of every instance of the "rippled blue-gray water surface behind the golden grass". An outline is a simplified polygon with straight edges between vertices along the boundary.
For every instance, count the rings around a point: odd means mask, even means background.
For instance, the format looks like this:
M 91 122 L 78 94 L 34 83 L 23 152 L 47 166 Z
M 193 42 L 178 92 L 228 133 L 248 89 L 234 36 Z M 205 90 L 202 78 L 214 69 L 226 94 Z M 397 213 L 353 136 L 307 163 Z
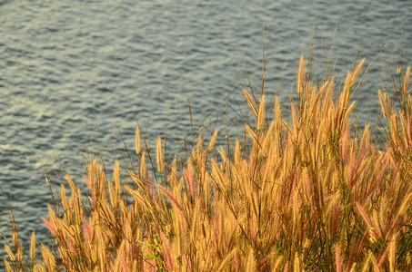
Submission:
M 1 0 L 0 232 L 10 232 L 10 194 L 22 238 L 35 230 L 45 241 L 40 220 L 50 201 L 45 172 L 60 182 L 55 178 L 61 176 L 59 160 L 80 180 L 85 146 L 113 160 L 115 149 L 122 148 L 116 123 L 133 149 L 136 120 L 146 128 L 150 116 L 147 135 L 164 134 L 167 127 L 169 145 L 178 151 L 177 139 L 190 135 L 188 93 L 196 127 L 207 126 L 210 119 L 212 129 L 223 135 L 227 119 L 236 134 L 241 124 L 236 120 L 245 116 L 243 51 L 257 89 L 264 24 L 266 93 L 273 94 L 282 77 L 277 92 L 286 104 L 294 93 L 298 57 L 310 50 L 314 25 L 317 63 L 337 29 L 332 61 L 340 56 L 338 69 L 349 69 L 357 51 L 370 63 L 383 44 L 396 64 L 402 41 L 404 58 L 411 53 L 409 4 Z M 375 121 L 371 105 L 378 110 L 382 62 L 385 55 L 357 92 L 360 121 Z M 322 72 L 321 65 L 314 69 Z M 0 253 L 3 258 L 3 246 Z

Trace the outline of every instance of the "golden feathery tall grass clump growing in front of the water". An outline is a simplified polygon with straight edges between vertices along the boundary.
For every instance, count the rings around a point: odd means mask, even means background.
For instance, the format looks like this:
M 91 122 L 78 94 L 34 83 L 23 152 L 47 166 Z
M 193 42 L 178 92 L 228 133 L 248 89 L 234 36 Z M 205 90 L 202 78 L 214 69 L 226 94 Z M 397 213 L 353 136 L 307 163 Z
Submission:
M 258 97 L 243 90 L 256 121 L 230 149 L 216 131 L 166 160 L 166 139 L 151 156 L 137 128 L 135 167 L 94 160 L 83 181 L 66 175 L 43 219 L 52 247 L 33 235 L 25 257 L 14 228 L 7 270 L 411 271 L 410 69 L 399 73 L 399 110 L 378 92 L 387 142 L 377 146 L 350 120 L 364 60 L 342 84 L 313 83 L 306 66 L 289 119 L 277 97 L 267 114 L 264 76 Z

